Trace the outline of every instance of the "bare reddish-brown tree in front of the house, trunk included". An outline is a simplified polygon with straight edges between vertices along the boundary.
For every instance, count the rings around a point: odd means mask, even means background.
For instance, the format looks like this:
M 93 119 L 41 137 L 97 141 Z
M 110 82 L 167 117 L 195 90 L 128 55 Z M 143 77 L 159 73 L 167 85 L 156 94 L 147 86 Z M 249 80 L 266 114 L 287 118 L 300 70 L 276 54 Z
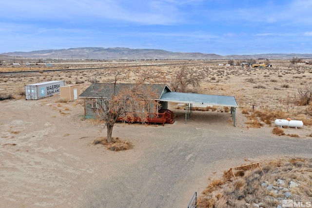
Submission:
M 100 95 L 101 88 L 95 89 L 94 92 L 98 94 L 98 98 L 93 99 L 91 105 L 94 105 L 94 113 L 105 123 L 107 128 L 107 143 L 112 142 L 113 127 L 118 118 L 123 121 L 140 121 L 146 122 L 149 112 L 156 112 L 159 106 L 158 101 L 154 99 L 157 93 L 152 90 L 150 85 L 143 83 L 128 84 L 117 89 L 117 76 L 112 84 L 114 89 L 110 98 L 104 98 Z

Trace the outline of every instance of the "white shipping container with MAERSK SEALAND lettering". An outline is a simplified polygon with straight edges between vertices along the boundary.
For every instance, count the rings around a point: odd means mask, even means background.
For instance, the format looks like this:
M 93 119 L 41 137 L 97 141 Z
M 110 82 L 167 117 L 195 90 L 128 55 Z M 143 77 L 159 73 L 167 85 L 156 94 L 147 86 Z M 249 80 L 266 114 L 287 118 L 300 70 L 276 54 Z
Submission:
M 60 93 L 60 87 L 65 81 L 50 81 L 25 85 L 26 100 L 38 100 Z

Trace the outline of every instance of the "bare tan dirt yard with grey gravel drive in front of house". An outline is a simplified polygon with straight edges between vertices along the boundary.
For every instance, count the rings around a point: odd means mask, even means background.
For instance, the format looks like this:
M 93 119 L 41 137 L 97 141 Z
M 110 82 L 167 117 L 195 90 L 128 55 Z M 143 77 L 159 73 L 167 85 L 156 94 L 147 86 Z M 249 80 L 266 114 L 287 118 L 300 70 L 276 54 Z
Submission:
M 57 99 L 0 103 L 0 207 L 187 207 L 208 177 L 231 166 L 312 157 L 309 137 L 248 129 L 239 112 L 236 127 L 228 113 L 211 111 L 185 124 L 182 110 L 173 125 L 117 124 L 113 136 L 134 148 L 111 152 L 92 145 L 105 130 L 81 120 L 80 104 Z

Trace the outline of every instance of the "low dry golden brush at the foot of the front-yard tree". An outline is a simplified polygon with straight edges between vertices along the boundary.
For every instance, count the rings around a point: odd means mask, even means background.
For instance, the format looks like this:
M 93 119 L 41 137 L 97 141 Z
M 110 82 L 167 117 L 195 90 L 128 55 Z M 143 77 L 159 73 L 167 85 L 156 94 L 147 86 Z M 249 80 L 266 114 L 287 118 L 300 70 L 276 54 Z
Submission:
M 133 146 L 131 143 L 129 143 L 128 141 L 122 141 L 119 140 L 118 137 L 113 137 L 112 138 L 112 142 L 110 144 L 107 143 L 107 139 L 105 137 L 101 137 L 97 140 L 93 141 L 94 145 L 104 145 L 106 146 L 107 149 L 112 150 L 112 151 L 122 151 L 122 150 L 127 150 L 127 149 L 132 149 Z

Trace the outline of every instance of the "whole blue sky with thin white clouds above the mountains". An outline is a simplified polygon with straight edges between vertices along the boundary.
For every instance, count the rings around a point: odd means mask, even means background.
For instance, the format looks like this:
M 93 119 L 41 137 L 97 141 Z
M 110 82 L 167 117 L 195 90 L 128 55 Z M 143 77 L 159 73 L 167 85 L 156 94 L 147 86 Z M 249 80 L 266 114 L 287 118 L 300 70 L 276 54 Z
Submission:
M 312 0 L 4 0 L 0 53 L 127 47 L 312 53 Z

